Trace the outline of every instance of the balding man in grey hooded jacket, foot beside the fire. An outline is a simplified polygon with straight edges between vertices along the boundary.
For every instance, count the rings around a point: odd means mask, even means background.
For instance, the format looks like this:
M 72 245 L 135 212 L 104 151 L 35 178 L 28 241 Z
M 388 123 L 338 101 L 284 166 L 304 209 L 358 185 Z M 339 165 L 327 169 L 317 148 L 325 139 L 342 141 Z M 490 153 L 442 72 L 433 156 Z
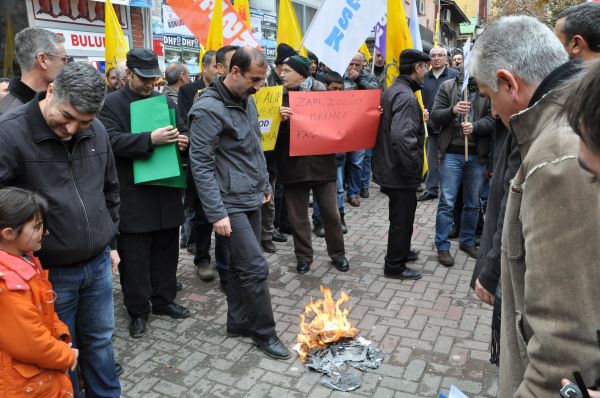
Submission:
M 190 164 L 216 233 L 217 263 L 228 264 L 219 269 L 227 294 L 227 334 L 251 336 L 267 355 L 287 359 L 290 352 L 275 332 L 269 267 L 260 247 L 260 208 L 272 190 L 250 95 L 266 74 L 261 51 L 235 51 L 229 74 L 215 79 L 190 110 Z

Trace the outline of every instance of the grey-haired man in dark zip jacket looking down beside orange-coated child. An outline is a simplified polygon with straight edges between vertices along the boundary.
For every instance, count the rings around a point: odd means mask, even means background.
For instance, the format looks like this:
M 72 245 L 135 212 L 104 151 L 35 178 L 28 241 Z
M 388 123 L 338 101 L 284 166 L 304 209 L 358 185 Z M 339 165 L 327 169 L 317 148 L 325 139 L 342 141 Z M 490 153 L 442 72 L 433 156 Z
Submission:
M 38 253 L 54 306 L 67 324 L 88 397 L 119 397 L 112 334 L 112 269 L 119 183 L 106 129 L 96 120 L 106 82 L 91 65 L 67 64 L 48 91 L 0 117 L 0 185 L 41 193 L 50 234 Z M 71 372 L 77 394 L 78 378 Z M 80 395 L 76 395 L 80 396 Z

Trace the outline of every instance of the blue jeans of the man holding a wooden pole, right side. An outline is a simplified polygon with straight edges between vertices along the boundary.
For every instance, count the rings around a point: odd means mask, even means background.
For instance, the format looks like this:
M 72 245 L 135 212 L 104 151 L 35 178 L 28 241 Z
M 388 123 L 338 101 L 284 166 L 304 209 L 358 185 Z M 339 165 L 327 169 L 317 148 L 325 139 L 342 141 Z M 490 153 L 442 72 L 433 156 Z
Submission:
M 485 165 L 479 163 L 477 155 L 446 153 L 440 160 L 440 201 L 435 219 L 435 246 L 438 250 L 450 250 L 448 234 L 452 229 L 452 212 L 456 194 L 463 182 L 463 208 L 460 218 L 460 246 L 474 246 L 473 236 L 479 220 L 479 195 L 483 184 Z

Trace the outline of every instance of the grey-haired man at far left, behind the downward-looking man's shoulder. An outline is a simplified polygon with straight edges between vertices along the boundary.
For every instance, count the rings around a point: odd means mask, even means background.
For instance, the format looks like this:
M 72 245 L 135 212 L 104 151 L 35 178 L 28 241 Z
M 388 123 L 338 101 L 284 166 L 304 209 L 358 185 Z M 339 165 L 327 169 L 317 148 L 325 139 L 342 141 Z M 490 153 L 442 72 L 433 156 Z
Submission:
M 65 65 L 65 38 L 42 28 L 26 28 L 15 35 L 17 62 L 21 78 L 14 78 L 8 95 L 0 99 L 0 115 L 33 99 Z

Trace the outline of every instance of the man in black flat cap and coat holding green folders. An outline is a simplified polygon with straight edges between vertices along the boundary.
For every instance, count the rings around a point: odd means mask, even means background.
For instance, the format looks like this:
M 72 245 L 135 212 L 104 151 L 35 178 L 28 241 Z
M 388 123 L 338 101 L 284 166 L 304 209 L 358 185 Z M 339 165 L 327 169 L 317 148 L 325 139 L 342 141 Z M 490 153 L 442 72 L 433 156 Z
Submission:
M 104 123 L 115 155 L 121 196 L 121 223 L 117 246 L 119 274 L 127 312 L 129 334 L 142 337 L 150 311 L 156 315 L 187 318 L 189 311 L 174 303 L 179 257 L 179 226 L 183 223 L 182 192 L 158 185 L 135 185 L 133 160 L 148 159 L 154 148 L 177 143 L 188 146 L 184 123 L 154 131 L 131 133 L 130 104 L 162 95 L 154 83 L 162 76 L 151 50 L 134 48 L 127 53 L 127 84 L 109 94 L 98 117 Z M 175 102 L 167 98 L 169 108 Z

